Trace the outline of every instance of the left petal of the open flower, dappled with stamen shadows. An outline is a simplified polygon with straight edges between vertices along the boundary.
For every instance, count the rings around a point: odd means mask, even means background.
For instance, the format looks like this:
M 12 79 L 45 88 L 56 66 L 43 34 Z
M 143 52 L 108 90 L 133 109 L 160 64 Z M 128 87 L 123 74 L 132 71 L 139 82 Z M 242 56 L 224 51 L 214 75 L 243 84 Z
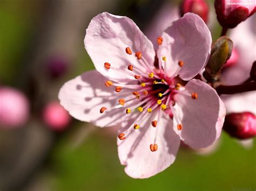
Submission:
M 110 109 L 100 114 L 102 107 L 111 108 L 118 105 L 120 96 L 114 92 L 114 87 L 106 87 L 107 79 L 96 70 L 85 72 L 66 82 L 59 91 L 60 104 L 70 115 L 80 121 L 95 125 L 113 126 L 122 122 L 125 109 L 114 111 Z M 123 97 L 124 98 L 124 97 Z

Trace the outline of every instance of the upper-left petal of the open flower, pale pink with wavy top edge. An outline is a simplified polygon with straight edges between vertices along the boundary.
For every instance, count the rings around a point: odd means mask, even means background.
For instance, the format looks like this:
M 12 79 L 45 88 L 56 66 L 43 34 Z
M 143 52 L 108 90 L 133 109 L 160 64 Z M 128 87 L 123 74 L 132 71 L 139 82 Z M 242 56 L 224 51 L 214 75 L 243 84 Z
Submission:
M 127 79 L 134 78 L 114 69 L 106 70 L 105 62 L 122 70 L 127 70 L 127 66 L 132 64 L 145 71 L 142 59 L 138 60 L 134 53 L 142 52 L 143 58 L 150 65 L 153 65 L 156 54 L 151 41 L 130 18 L 114 16 L 107 12 L 91 20 L 86 30 L 84 44 L 97 71 L 118 82 L 126 82 Z M 132 55 L 125 52 L 126 47 L 131 48 Z

